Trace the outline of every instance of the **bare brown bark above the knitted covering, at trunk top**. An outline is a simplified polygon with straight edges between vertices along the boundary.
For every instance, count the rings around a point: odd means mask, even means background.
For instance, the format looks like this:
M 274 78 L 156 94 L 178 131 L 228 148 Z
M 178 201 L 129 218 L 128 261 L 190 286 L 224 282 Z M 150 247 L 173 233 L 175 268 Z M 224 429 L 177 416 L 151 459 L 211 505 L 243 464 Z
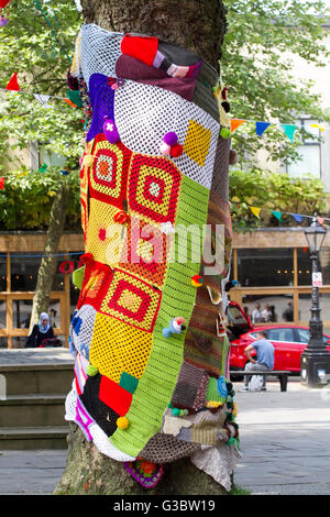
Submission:
M 81 6 L 86 23 L 157 36 L 217 68 L 227 30 L 221 0 L 81 0 Z

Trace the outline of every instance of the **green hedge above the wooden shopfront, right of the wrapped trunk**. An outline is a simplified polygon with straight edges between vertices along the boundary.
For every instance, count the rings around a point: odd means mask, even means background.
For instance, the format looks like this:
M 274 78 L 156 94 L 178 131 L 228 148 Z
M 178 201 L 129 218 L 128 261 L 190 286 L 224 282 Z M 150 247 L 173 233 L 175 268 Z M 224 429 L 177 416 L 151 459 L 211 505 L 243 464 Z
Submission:
M 235 230 L 262 226 L 296 226 L 295 219 L 283 215 L 279 222 L 272 211 L 302 213 L 310 216 L 315 211 L 326 210 L 324 185 L 317 178 L 290 178 L 287 174 L 268 170 L 231 170 L 229 177 L 229 199 L 231 201 L 232 223 Z M 262 210 L 260 219 L 249 207 Z

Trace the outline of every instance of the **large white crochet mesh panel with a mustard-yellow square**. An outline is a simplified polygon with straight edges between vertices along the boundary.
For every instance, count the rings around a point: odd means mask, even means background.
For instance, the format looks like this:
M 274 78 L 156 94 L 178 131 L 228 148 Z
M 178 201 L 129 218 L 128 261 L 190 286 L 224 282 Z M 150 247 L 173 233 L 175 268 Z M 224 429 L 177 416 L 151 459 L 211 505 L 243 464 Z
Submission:
M 135 153 L 158 156 L 164 135 L 175 131 L 184 153 L 173 163 L 210 188 L 220 125 L 207 112 L 172 91 L 125 80 L 114 96 L 114 121 L 122 143 Z

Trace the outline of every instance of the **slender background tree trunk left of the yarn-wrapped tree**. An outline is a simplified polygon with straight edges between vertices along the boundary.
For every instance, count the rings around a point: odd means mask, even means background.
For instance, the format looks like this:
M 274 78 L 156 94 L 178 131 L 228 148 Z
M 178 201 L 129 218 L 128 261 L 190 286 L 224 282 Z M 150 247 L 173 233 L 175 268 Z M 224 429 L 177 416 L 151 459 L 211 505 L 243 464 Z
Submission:
M 33 326 L 37 322 L 40 314 L 48 311 L 50 294 L 57 266 L 57 256 L 55 255 L 58 251 L 59 239 L 63 234 L 67 200 L 68 189 L 64 182 L 56 193 L 51 210 L 44 256 L 42 257 L 37 272 L 37 282 L 30 321 L 30 333 Z

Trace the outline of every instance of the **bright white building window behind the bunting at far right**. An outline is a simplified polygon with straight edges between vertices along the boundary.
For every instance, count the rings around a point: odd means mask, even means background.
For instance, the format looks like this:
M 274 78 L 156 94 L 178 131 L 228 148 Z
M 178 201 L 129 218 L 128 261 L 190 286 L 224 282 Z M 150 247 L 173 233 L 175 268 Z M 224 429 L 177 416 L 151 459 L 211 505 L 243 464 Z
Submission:
M 296 121 L 297 125 L 301 125 L 306 131 L 305 136 L 301 139 L 301 144 L 297 146 L 300 161 L 287 165 L 287 174 L 290 177 L 306 177 L 311 174 L 317 178 L 321 178 L 321 143 L 315 138 L 320 136 L 320 129 L 316 128 L 317 120 L 314 119 L 299 119 Z M 308 134 L 312 135 L 308 136 Z

